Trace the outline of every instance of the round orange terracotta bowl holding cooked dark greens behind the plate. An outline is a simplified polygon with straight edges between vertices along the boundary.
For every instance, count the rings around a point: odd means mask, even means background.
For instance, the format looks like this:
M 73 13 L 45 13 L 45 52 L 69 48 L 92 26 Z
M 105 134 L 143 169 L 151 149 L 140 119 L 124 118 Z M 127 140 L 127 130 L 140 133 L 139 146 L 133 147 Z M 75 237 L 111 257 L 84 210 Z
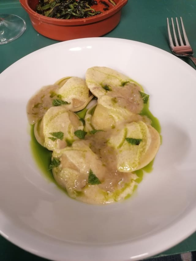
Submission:
M 115 0 L 116 6 L 107 1 L 110 5 L 109 10 L 103 11 L 105 6 L 100 3 L 100 0 L 97 0 L 98 5 L 95 9 L 103 13 L 94 17 L 78 19 L 57 19 L 40 15 L 34 11 L 39 0 L 20 0 L 20 3 L 28 13 L 32 26 L 37 32 L 51 39 L 65 41 L 98 37 L 110 32 L 119 23 L 121 9 L 127 1 Z

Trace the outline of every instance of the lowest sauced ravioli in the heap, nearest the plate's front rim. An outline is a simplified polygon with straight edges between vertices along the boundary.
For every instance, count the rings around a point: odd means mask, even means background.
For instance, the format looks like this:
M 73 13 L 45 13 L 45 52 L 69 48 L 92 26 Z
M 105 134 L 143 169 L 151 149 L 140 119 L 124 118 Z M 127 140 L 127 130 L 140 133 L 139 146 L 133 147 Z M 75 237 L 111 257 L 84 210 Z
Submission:
M 113 179 L 111 190 L 111 173 L 108 173 L 107 167 L 89 148 L 88 142 L 75 141 L 72 147 L 55 150 L 52 157 L 60 160 L 59 166 L 52 170 L 57 183 L 66 188 L 69 196 L 86 203 L 104 204 L 122 200 L 131 193 L 135 185 L 135 174 L 126 173 L 123 177 L 120 173 Z M 95 173 L 100 184 L 88 182 L 90 172 Z

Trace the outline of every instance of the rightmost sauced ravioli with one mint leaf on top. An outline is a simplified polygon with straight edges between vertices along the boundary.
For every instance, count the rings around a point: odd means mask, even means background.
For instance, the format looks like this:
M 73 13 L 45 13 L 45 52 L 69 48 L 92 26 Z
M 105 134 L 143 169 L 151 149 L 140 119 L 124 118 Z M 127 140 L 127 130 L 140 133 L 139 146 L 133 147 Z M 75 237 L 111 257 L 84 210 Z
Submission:
M 116 150 L 117 170 L 132 172 L 148 165 L 160 146 L 160 135 L 143 121 L 116 129 L 107 144 Z

